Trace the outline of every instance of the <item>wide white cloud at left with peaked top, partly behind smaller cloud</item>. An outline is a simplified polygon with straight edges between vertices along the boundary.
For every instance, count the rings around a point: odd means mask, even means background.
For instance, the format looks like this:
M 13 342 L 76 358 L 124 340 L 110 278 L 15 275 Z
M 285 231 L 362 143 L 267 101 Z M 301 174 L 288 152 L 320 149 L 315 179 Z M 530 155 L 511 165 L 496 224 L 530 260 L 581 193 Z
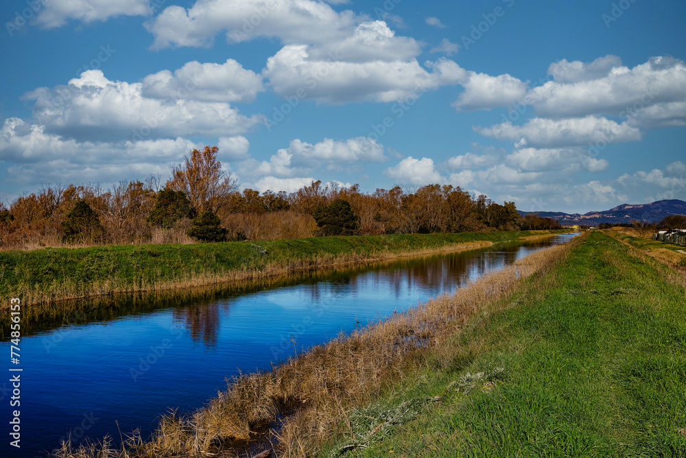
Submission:
M 47 132 L 80 140 L 236 135 L 261 122 L 225 102 L 147 98 L 142 83 L 111 81 L 100 70 L 84 71 L 67 86 L 38 88 L 25 99 L 36 100 L 34 119 Z

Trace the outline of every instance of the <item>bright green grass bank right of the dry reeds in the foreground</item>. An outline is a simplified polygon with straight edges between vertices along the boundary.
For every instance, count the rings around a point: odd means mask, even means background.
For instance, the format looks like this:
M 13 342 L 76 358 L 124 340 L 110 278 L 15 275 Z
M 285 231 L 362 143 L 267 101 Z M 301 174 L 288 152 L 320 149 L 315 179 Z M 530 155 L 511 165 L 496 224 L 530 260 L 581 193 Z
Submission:
M 686 457 L 685 282 L 630 250 L 591 233 L 322 456 Z

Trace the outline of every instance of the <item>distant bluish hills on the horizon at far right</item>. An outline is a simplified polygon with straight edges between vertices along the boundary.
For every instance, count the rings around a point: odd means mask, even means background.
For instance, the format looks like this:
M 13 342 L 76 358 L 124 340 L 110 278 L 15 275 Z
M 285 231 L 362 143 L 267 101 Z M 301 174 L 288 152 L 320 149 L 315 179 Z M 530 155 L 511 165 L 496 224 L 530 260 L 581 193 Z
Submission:
M 665 216 L 686 215 L 686 202 L 678 199 L 631 205 L 624 203 L 605 211 L 589 211 L 584 214 L 568 214 L 562 211 L 520 211 L 527 215 L 536 213 L 543 218 L 553 218 L 563 226 L 597 226 L 601 222 L 659 221 Z

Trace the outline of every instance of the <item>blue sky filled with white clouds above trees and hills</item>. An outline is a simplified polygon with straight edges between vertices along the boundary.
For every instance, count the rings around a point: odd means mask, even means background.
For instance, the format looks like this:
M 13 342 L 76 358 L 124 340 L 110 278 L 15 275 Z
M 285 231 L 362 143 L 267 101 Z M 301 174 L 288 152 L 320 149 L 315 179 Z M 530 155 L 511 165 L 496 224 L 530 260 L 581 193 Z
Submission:
M 204 145 L 261 191 L 686 200 L 683 1 L 11 0 L 0 20 L 5 203 L 165 178 Z

